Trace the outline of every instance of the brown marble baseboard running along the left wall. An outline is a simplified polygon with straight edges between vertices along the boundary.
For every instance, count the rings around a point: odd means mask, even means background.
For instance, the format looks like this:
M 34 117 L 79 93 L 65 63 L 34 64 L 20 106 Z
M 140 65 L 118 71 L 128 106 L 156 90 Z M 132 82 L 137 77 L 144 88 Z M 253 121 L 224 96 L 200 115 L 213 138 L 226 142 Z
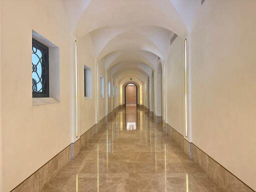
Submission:
M 97 124 L 94 124 L 86 132 L 80 135 L 78 140 L 74 143 L 70 143 L 24 181 L 13 188 L 11 192 L 39 192 L 46 182 L 53 178 L 64 165 L 78 155 L 80 149 L 86 145 L 89 139 L 93 138 L 108 120 L 111 120 L 112 116 L 116 115 L 120 107 L 121 105 L 117 106 L 112 112 L 108 113 L 107 116 L 104 116 Z

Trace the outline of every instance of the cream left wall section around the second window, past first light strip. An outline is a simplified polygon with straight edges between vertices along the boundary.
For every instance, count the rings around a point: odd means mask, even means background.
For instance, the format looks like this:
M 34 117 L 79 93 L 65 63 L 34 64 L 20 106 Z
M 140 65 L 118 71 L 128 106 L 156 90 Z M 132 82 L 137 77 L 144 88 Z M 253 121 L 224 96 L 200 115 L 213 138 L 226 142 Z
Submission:
M 78 41 L 79 63 L 79 132 L 82 135 L 96 123 L 96 61 L 93 56 L 90 35 L 83 36 Z M 91 69 L 91 97 L 84 97 L 84 65 Z

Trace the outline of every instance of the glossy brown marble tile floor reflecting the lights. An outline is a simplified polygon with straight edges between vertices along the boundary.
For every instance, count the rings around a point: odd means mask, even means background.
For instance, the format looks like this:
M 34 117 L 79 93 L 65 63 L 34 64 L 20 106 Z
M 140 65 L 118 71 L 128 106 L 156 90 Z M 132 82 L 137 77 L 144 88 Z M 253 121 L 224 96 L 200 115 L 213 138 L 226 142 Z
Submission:
M 127 106 L 42 191 L 222 190 L 184 155 L 161 122 Z

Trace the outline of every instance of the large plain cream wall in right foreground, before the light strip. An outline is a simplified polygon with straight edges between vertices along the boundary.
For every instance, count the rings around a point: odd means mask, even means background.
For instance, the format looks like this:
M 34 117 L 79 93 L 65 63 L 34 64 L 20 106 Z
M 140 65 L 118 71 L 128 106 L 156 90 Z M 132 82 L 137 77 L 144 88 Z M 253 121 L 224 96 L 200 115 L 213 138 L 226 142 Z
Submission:
M 254 190 L 255 7 L 206 0 L 190 35 L 193 143 Z

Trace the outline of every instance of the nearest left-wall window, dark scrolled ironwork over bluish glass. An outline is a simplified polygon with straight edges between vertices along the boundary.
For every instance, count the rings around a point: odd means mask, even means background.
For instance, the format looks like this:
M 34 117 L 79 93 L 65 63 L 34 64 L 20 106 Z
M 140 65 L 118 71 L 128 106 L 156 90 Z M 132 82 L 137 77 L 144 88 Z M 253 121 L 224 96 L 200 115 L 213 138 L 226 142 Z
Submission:
M 32 97 L 49 97 L 49 50 L 32 38 Z

